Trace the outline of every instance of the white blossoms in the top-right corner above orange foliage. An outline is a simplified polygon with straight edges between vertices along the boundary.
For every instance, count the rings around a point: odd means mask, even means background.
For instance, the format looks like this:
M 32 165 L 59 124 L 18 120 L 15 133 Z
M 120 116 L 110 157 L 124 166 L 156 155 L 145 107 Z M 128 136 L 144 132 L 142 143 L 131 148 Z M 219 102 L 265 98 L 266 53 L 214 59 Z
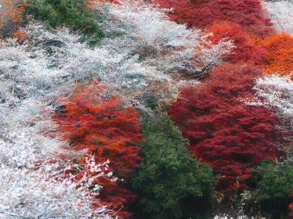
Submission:
M 271 20 L 276 30 L 293 35 L 293 1 L 273 0 L 263 1 L 262 4 L 271 14 Z

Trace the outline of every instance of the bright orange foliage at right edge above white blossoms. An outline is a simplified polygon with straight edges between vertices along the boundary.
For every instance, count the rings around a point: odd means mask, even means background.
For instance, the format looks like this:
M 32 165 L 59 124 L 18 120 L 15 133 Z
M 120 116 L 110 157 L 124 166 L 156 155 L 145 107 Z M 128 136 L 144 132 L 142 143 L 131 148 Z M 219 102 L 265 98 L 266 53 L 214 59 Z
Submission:
M 281 33 L 259 40 L 268 55 L 266 57 L 266 72 L 289 75 L 293 78 L 293 37 Z

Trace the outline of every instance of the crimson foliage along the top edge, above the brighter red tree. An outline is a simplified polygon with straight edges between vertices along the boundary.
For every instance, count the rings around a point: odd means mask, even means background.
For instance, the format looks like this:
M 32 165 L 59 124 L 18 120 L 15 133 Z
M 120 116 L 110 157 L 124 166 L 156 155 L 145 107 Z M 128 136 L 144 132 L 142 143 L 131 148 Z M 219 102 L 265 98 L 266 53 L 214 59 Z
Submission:
M 170 19 L 191 27 L 207 28 L 213 22 L 231 21 L 244 32 L 258 37 L 274 33 L 264 16 L 259 0 L 155 0 L 162 7 L 173 8 Z

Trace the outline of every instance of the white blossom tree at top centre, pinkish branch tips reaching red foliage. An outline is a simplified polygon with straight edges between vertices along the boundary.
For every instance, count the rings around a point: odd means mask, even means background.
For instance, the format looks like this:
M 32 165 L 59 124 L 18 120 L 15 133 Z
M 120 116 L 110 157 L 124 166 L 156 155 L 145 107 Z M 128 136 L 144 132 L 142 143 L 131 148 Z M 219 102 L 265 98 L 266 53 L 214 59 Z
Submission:
M 109 29 L 122 34 L 105 39 L 106 46 L 136 55 L 140 62 L 166 73 L 188 70 L 196 75 L 221 64 L 223 55 L 233 48 L 226 38 L 212 44 L 207 40 L 211 34 L 170 21 L 166 15 L 169 9 L 142 0 L 122 0 L 104 7 L 112 18 Z

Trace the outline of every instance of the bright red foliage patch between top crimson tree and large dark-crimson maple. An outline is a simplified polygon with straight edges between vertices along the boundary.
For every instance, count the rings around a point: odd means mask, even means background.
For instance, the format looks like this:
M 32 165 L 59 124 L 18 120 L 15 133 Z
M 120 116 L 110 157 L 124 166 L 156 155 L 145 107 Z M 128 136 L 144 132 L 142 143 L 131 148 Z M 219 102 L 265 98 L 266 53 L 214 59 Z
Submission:
M 209 27 L 214 34 L 210 40 L 217 43 L 221 38 L 229 37 L 236 46 L 233 54 L 227 55 L 230 63 L 251 62 L 255 65 L 264 64 L 266 50 L 255 45 L 254 40 L 241 30 L 241 26 L 232 22 L 214 22 Z

